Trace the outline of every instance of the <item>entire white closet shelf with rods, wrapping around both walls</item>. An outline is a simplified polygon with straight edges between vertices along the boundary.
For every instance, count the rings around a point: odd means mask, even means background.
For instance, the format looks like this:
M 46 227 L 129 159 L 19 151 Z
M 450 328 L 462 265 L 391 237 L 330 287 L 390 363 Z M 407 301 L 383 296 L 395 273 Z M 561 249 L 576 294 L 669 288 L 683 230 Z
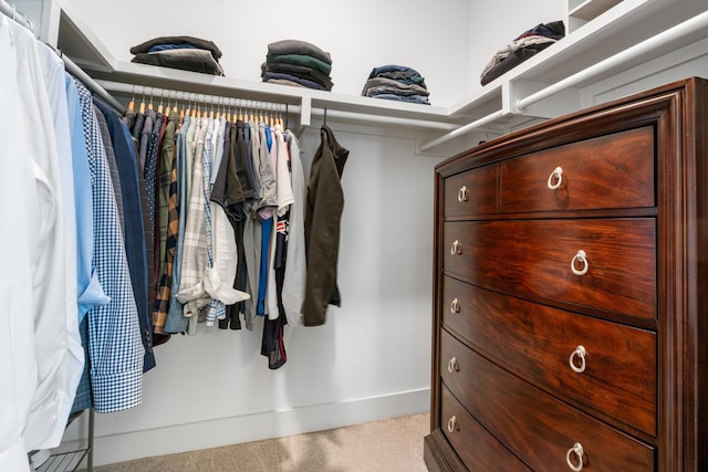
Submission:
M 616 4 L 608 6 L 607 1 Z M 66 11 L 63 6 L 58 46 L 91 76 L 106 84 L 124 84 L 123 88 L 114 87 L 117 96 L 124 99 L 131 96 L 125 84 L 136 84 L 242 101 L 288 104 L 299 113 L 301 128 L 311 126 L 312 117 L 322 116 L 323 111 L 327 109 L 327 116 L 346 122 L 413 127 L 427 132 L 426 135 L 438 135 L 435 139 L 418 144 L 417 150 L 423 153 L 475 130 L 503 134 L 527 123 L 577 111 L 581 108 L 583 87 L 708 35 L 706 29 L 686 33 L 680 31 L 684 23 L 708 10 L 705 0 L 592 2 L 602 6 L 604 13 L 486 86 L 471 86 L 472 92 L 450 107 L 399 103 L 116 61 L 93 36 L 90 28 L 73 20 L 81 18 L 80 13 Z M 678 31 L 666 41 L 653 44 L 649 49 L 635 48 L 671 29 Z M 633 48 L 636 53 L 624 54 Z M 613 56 L 623 60 L 613 62 Z M 605 66 L 595 67 L 603 62 Z M 583 71 L 592 73 L 582 74 Z M 565 85 L 554 87 L 559 83 Z M 520 107 L 519 104 L 524 106 Z M 429 139 L 429 136 L 423 135 L 423 139 Z

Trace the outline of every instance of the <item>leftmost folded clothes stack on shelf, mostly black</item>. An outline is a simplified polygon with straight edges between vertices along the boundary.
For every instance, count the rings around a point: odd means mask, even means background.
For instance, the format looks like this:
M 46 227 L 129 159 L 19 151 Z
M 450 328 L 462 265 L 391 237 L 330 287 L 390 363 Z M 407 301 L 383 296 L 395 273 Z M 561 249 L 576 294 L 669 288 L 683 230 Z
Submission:
M 131 62 L 223 75 L 221 51 L 211 41 L 192 36 L 160 36 L 131 48 Z

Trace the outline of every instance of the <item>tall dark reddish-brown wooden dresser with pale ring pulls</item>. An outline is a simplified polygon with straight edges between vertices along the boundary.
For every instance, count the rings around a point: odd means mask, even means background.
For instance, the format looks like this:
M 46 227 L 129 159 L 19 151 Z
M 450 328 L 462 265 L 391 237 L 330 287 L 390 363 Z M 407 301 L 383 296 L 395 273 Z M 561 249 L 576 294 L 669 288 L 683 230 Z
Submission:
M 436 167 L 429 470 L 708 470 L 708 82 Z

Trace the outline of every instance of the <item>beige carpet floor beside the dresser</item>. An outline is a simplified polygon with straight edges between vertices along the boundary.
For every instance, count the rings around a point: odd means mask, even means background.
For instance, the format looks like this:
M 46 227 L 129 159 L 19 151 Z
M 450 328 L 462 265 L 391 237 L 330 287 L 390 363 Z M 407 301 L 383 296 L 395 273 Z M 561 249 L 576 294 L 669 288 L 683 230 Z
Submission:
M 140 459 L 96 472 L 426 472 L 429 415 Z

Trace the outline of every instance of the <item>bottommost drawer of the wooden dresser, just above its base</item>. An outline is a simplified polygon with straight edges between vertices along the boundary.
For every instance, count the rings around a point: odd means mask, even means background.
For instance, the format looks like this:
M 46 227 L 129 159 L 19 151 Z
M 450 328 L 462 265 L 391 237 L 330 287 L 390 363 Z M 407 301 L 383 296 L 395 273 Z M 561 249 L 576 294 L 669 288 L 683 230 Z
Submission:
M 441 430 L 467 469 L 499 472 L 531 470 L 485 430 L 445 386 L 441 390 Z

